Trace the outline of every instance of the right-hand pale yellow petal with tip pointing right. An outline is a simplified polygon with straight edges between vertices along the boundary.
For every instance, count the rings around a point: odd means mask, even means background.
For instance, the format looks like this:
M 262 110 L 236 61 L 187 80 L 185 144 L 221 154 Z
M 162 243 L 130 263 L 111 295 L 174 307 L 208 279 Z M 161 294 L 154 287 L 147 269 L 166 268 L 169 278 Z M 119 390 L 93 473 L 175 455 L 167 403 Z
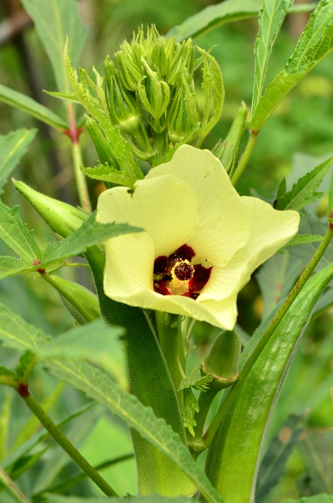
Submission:
M 221 300 L 237 293 L 249 281 L 254 269 L 274 255 L 297 234 L 297 211 L 278 211 L 265 201 L 242 197 L 251 220 L 251 235 L 225 267 L 213 267 L 200 300 Z

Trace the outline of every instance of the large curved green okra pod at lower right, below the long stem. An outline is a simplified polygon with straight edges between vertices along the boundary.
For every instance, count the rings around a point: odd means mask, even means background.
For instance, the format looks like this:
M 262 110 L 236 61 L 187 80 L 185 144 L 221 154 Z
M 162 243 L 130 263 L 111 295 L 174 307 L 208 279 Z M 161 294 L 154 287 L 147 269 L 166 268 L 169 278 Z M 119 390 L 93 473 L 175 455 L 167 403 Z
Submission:
M 256 474 L 272 408 L 303 327 L 332 277 L 333 264 L 330 264 L 303 287 L 252 367 L 216 435 L 216 441 L 209 448 L 208 475 L 219 492 L 228 494 L 230 501 L 248 501 L 256 488 Z M 250 351 L 246 350 L 247 357 L 249 354 Z

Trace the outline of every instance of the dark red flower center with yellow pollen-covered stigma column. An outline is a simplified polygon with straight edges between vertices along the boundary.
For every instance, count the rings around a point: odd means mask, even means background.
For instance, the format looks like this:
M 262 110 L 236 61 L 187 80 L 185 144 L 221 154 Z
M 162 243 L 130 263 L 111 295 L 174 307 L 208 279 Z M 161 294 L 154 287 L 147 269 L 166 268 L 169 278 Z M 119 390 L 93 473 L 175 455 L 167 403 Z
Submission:
M 161 255 L 154 261 L 154 291 L 161 295 L 183 295 L 197 299 L 210 278 L 212 267 L 193 263 L 193 248 L 183 244 L 169 257 Z

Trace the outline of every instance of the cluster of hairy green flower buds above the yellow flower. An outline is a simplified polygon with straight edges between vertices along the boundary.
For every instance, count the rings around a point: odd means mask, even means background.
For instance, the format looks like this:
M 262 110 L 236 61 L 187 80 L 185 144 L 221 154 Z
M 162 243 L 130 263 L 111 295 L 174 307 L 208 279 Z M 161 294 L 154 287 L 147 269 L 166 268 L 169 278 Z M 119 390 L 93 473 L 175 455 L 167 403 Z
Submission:
M 113 125 L 129 141 L 132 153 L 153 164 L 174 145 L 199 146 L 219 120 L 223 79 L 216 60 L 199 49 L 195 60 L 191 39 L 181 44 L 159 35 L 154 26 L 141 28 L 104 62 L 106 102 Z M 196 66 L 204 63 L 204 110 L 194 92 Z

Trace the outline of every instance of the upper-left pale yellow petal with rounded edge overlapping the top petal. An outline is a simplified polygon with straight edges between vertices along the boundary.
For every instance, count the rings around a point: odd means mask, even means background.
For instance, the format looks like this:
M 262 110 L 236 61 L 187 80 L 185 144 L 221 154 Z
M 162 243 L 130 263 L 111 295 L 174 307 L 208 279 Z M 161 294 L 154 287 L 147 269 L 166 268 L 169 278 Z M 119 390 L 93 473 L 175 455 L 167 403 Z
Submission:
M 171 175 L 135 183 L 134 194 L 114 187 L 99 197 L 100 222 L 143 227 L 155 246 L 155 258 L 169 256 L 185 244 L 198 225 L 197 199 L 185 182 Z

